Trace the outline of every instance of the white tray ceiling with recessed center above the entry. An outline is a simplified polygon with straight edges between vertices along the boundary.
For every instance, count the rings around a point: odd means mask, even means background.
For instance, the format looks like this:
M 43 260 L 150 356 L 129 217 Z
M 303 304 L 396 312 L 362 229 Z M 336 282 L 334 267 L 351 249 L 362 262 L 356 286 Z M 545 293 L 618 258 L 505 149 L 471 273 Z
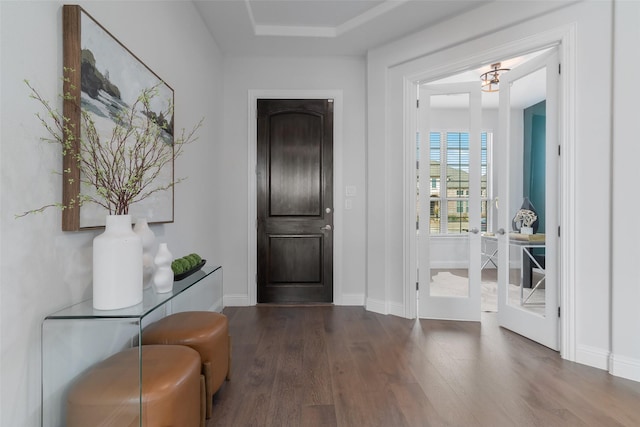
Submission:
M 193 0 L 226 55 L 364 55 L 493 0 Z

